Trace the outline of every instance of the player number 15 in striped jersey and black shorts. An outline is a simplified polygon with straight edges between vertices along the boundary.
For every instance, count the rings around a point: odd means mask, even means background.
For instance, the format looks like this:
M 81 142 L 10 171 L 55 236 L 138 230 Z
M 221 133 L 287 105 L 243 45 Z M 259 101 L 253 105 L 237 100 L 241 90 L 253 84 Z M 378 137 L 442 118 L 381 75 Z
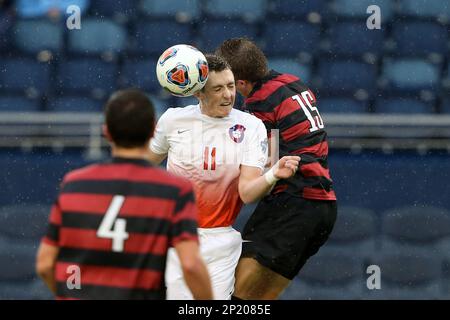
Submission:
M 301 156 L 296 175 L 277 182 L 242 232 L 235 298 L 276 299 L 326 242 L 336 221 L 327 133 L 311 90 L 294 75 L 269 70 L 253 42 L 229 39 L 216 54 L 231 65 L 244 109 L 269 132 L 279 130 L 280 156 Z

